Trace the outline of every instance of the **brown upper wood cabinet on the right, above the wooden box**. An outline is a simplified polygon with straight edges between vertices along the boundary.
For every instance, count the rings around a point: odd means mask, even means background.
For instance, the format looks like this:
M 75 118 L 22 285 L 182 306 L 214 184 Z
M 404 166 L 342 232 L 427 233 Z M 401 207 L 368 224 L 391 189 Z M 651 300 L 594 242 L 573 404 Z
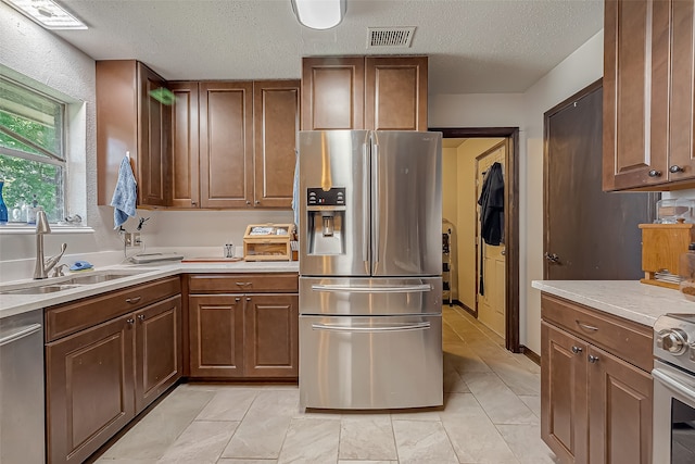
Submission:
M 604 190 L 693 186 L 692 0 L 607 0 Z

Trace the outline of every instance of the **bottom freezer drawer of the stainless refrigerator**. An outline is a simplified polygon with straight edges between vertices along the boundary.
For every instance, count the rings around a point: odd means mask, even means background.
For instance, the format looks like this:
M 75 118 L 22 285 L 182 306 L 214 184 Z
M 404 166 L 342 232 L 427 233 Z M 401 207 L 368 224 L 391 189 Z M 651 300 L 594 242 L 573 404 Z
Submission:
M 300 316 L 302 409 L 442 404 L 442 316 Z

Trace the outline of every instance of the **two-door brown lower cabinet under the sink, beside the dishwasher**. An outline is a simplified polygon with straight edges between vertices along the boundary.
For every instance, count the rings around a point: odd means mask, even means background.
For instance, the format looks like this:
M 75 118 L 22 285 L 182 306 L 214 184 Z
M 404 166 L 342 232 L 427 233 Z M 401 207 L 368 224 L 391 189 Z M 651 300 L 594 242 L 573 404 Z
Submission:
M 49 464 L 84 462 L 180 378 L 179 292 L 176 277 L 46 310 Z M 121 315 L 51 338 L 56 318 L 80 327 L 85 308 L 111 312 L 121 300 Z

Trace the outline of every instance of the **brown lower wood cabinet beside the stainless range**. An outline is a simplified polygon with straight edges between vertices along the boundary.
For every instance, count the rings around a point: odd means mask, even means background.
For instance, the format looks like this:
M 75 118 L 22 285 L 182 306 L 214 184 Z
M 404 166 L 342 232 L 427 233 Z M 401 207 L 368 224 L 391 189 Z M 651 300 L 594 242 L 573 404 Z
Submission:
M 546 294 L 541 305 L 543 440 L 563 463 L 650 463 L 650 329 Z

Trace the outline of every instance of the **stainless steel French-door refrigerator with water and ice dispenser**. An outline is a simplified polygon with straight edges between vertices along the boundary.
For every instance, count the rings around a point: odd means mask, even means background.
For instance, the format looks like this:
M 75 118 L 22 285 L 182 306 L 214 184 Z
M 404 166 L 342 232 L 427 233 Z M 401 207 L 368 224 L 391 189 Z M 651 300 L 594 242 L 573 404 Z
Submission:
M 300 405 L 443 404 L 441 134 L 300 133 Z

